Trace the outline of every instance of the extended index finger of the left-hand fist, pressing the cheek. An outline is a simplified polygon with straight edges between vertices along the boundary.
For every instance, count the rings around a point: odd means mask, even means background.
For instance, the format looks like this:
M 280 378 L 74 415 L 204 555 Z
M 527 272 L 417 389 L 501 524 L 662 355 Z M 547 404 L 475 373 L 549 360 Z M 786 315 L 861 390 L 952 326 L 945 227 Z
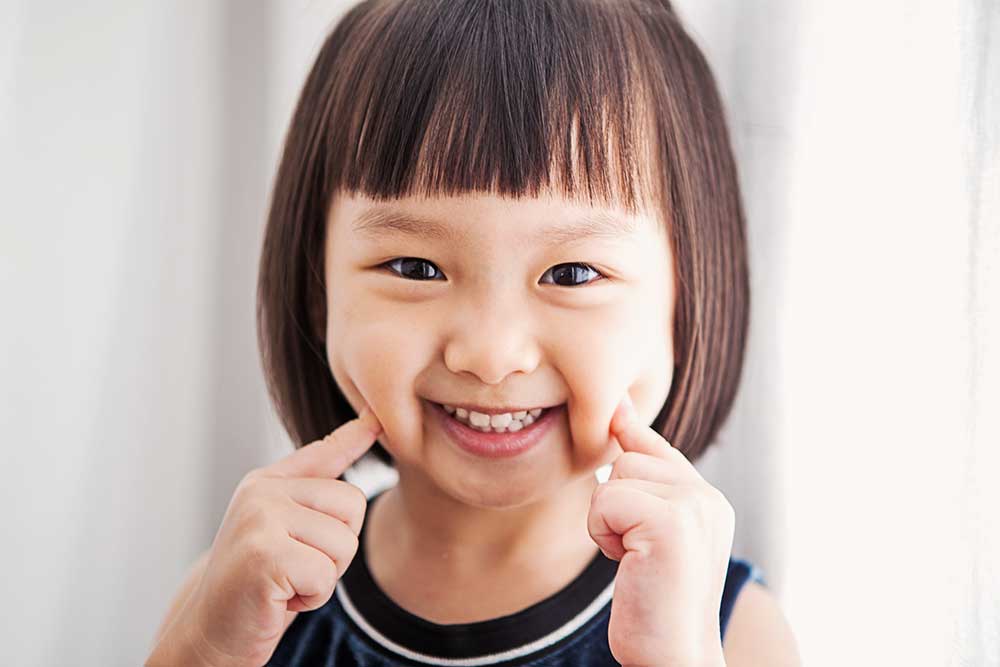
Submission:
M 357 418 L 344 422 L 323 439 L 303 445 L 268 466 L 267 471 L 285 477 L 335 479 L 375 444 L 381 432 L 378 418 L 365 406 Z

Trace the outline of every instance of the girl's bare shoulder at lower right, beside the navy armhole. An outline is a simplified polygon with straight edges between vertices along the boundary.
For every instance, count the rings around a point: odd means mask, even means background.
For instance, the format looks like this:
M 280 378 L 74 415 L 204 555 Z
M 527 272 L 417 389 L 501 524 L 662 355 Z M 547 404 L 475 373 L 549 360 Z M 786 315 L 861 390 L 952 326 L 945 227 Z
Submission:
M 722 645 L 727 667 L 800 667 L 792 629 L 765 586 L 748 581 L 733 605 Z

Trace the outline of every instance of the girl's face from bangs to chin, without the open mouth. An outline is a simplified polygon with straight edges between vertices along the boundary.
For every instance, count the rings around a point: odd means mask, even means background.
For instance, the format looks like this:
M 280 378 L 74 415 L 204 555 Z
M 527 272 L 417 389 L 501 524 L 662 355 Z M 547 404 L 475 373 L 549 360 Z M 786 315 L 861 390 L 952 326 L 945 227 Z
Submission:
M 326 238 L 331 370 L 355 410 L 375 412 L 401 480 L 472 505 L 531 502 L 621 453 L 609 425 L 626 391 L 647 423 L 666 400 L 673 267 L 654 216 L 338 193 Z M 452 442 L 433 403 L 562 410 L 531 449 L 487 459 Z

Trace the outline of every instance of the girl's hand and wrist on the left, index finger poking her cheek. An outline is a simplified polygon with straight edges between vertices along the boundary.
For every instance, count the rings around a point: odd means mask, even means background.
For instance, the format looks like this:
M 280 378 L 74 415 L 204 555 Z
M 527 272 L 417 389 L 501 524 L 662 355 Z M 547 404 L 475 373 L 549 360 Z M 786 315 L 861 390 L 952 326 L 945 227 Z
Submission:
M 161 641 L 212 665 L 265 664 L 295 613 L 326 604 L 357 553 L 368 499 L 336 477 L 380 432 L 366 406 L 322 440 L 250 471 L 204 576 Z

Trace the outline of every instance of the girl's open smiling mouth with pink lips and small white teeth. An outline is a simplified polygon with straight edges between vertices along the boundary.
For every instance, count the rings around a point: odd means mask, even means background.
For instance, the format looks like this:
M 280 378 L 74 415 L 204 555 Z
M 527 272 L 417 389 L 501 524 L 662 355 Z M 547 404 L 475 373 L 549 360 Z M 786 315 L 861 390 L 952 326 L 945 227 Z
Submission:
M 485 415 L 432 401 L 425 403 L 454 444 L 469 454 L 491 459 L 509 458 L 532 449 L 565 409 L 562 403 L 536 410 Z

